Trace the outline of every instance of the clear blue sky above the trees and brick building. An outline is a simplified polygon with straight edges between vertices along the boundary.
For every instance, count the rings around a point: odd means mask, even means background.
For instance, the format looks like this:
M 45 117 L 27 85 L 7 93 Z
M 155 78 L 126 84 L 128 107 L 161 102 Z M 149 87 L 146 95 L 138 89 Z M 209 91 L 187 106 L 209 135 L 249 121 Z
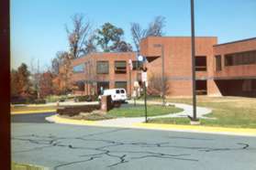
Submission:
M 256 37 L 256 0 L 195 0 L 195 36 L 215 36 L 218 43 Z M 124 29 L 132 44 L 130 23 L 146 28 L 164 16 L 165 36 L 190 36 L 190 0 L 11 0 L 11 68 L 22 63 L 50 67 L 58 51 L 68 50 L 65 25 L 83 14 L 93 28 L 110 22 Z

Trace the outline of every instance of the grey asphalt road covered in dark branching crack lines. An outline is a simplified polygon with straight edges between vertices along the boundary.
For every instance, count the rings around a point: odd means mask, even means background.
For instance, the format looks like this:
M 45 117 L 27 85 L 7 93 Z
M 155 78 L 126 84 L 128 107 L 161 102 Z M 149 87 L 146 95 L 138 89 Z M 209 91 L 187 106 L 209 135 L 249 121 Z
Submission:
M 12 159 L 64 169 L 256 169 L 256 138 L 12 123 Z

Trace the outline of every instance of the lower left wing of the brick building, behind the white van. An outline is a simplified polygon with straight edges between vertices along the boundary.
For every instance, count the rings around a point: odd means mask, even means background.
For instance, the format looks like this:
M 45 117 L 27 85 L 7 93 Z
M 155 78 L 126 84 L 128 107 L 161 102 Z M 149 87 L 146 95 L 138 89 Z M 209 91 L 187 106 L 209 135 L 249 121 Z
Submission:
M 130 71 L 128 61 L 136 62 L 135 52 L 107 52 L 92 53 L 83 58 L 76 58 L 72 61 L 73 75 L 72 82 L 77 87 L 74 90 L 79 94 L 97 94 L 100 88 L 113 89 L 125 88 L 128 90 L 136 78 L 136 67 Z M 129 72 L 130 71 L 130 72 Z M 129 73 L 130 78 L 129 80 Z

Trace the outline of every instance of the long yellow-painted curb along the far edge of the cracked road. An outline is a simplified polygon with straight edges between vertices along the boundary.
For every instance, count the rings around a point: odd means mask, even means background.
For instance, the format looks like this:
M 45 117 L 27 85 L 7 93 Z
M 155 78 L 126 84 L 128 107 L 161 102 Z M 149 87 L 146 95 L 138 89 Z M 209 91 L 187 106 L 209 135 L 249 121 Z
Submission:
M 226 135 L 240 135 L 240 136 L 256 136 L 256 129 L 247 128 L 228 128 L 228 127 L 212 127 L 202 125 L 177 125 L 177 124 L 161 124 L 161 123 L 145 123 L 136 122 L 131 125 L 120 124 L 100 124 L 97 121 L 80 121 L 71 120 L 68 118 L 61 118 L 58 115 L 53 115 L 46 118 L 49 122 L 72 124 L 72 125 L 87 125 L 97 127 L 116 127 L 116 128 L 134 128 L 134 129 L 147 129 L 147 130 L 160 130 L 160 131 L 173 131 L 185 133 L 214 133 Z

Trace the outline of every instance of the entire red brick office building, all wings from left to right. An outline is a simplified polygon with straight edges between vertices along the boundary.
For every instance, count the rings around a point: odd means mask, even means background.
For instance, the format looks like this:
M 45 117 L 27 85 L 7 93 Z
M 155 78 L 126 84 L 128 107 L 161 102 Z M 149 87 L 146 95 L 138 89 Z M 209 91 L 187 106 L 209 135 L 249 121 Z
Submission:
M 150 78 L 161 77 L 161 53 L 167 96 L 191 96 L 191 37 L 141 40 L 140 55 L 148 60 L 149 89 L 153 86 Z M 140 83 L 136 56 L 136 52 L 92 53 L 74 59 L 74 92 L 95 94 L 103 87 L 125 88 L 130 94 L 134 81 Z M 133 61 L 132 70 L 129 59 Z M 198 94 L 256 97 L 256 38 L 217 44 L 217 37 L 195 37 L 195 70 Z

